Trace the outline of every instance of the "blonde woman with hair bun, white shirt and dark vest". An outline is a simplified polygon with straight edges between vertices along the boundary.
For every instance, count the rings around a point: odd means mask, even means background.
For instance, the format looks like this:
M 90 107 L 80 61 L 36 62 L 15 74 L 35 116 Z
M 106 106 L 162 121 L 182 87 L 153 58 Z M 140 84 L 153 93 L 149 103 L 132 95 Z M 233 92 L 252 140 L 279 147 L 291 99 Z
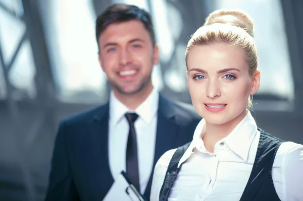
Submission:
M 249 112 L 260 86 L 253 27 L 241 11 L 218 10 L 189 40 L 187 85 L 204 119 L 192 142 L 159 159 L 150 200 L 303 200 L 303 146 Z

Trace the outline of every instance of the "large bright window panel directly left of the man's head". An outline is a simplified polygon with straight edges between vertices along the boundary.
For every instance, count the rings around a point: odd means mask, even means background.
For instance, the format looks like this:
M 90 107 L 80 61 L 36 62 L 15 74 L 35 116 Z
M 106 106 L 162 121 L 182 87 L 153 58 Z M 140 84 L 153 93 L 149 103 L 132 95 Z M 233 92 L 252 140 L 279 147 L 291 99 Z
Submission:
M 98 63 L 92 1 L 39 3 L 59 98 L 100 102 L 106 98 L 107 79 Z

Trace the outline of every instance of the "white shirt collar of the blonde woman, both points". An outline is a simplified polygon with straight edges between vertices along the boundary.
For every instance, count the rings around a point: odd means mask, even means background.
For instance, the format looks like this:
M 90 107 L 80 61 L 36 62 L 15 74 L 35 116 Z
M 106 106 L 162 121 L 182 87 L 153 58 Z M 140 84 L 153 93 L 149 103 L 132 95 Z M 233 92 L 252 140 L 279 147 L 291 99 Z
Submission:
M 204 126 L 205 119 L 203 118 L 196 126 L 192 142 L 180 159 L 178 167 L 180 167 L 180 165 L 190 157 L 194 148 L 204 145 L 204 142 L 201 139 L 201 131 L 203 130 Z M 254 140 L 256 136 L 257 129 L 258 127 L 254 117 L 252 117 L 250 111 L 247 110 L 247 114 L 242 121 L 231 131 L 227 137 L 222 139 L 220 142 L 225 142 L 235 154 L 239 155 L 246 162 L 248 152 L 252 140 Z

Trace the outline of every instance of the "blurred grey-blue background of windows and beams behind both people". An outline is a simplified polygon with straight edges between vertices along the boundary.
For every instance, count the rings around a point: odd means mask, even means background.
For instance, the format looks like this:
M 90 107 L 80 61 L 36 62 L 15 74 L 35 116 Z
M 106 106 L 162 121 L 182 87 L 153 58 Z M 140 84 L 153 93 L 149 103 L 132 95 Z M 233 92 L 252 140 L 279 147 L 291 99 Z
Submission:
M 184 53 L 209 13 L 238 8 L 255 21 L 258 125 L 303 143 L 301 0 L 0 0 L 0 200 L 43 200 L 60 119 L 108 101 L 94 23 L 113 3 L 153 16 L 161 62 L 153 83 L 190 103 Z

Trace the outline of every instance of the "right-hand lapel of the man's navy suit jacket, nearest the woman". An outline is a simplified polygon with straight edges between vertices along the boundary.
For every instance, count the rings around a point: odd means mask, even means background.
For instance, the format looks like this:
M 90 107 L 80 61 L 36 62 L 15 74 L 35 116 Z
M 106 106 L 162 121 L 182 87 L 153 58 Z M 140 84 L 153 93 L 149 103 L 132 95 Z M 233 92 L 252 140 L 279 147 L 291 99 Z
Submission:
M 154 157 L 154 166 L 159 158 L 168 150 L 176 148 L 176 140 L 178 136 L 177 115 L 173 104 L 160 94 L 158 120 L 157 120 L 157 134 L 156 134 L 156 148 Z M 151 181 L 154 174 L 150 174 L 146 189 L 150 190 Z M 149 199 L 149 193 L 145 190 L 144 196 Z

